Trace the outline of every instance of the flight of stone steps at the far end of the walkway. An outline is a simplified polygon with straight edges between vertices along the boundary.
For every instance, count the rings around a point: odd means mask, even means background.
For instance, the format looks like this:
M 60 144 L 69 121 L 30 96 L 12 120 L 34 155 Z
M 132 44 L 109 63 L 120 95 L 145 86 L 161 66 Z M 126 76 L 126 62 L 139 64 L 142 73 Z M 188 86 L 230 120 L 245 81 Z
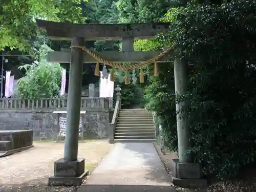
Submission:
M 152 113 L 143 109 L 120 110 L 115 129 L 115 142 L 155 142 Z

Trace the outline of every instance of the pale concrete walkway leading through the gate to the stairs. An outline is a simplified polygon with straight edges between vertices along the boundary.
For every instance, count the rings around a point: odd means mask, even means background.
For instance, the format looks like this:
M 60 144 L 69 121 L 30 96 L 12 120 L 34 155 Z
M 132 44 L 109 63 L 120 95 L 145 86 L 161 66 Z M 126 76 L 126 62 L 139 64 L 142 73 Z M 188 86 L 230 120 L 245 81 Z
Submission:
M 116 143 L 78 192 L 174 192 L 170 180 L 152 143 Z

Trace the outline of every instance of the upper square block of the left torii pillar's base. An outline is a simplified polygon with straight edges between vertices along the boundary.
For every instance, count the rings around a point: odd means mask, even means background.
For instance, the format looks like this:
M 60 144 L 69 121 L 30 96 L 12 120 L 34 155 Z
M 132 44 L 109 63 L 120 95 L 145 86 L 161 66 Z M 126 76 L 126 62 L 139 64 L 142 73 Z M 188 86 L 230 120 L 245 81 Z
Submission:
M 80 177 L 84 173 L 85 160 L 78 158 L 76 161 L 59 159 L 54 163 L 55 177 Z

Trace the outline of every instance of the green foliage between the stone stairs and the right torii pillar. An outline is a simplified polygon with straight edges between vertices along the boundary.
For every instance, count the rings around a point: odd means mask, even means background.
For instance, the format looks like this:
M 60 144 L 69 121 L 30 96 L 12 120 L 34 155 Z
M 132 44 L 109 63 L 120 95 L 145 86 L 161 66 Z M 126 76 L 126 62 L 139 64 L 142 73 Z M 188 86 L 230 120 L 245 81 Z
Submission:
M 166 146 L 178 151 L 177 122 L 175 109 L 175 89 L 173 65 L 164 63 L 158 66 L 159 76 L 150 79 L 150 85 L 144 90 L 145 108 L 156 112 L 162 126 L 162 135 Z M 153 71 L 153 69 L 151 69 Z

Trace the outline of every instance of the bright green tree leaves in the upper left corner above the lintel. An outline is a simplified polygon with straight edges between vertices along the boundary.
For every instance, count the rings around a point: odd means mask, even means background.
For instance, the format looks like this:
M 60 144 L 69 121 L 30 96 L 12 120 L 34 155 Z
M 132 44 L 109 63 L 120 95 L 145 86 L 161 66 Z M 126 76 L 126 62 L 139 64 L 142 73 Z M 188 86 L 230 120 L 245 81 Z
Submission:
M 1 0 L 0 50 L 5 47 L 30 51 L 37 36 L 35 18 L 81 22 L 80 0 Z

